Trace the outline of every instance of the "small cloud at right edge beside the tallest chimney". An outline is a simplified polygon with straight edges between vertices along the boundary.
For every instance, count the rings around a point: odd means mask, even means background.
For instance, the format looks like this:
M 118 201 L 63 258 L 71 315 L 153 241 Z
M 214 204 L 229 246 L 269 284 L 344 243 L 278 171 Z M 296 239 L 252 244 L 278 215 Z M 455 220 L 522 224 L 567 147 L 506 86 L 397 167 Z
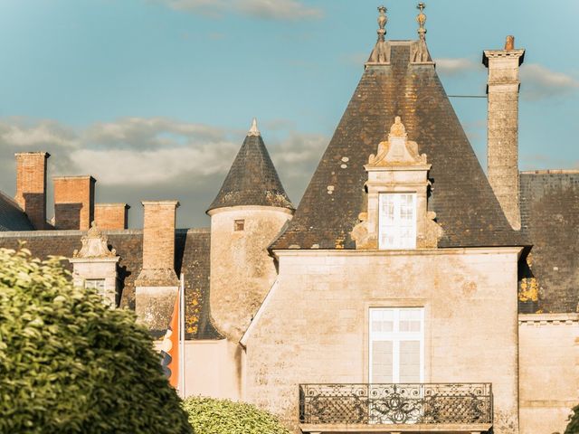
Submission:
M 538 63 L 521 66 L 520 80 L 521 97 L 525 99 L 565 96 L 579 89 L 579 80 Z

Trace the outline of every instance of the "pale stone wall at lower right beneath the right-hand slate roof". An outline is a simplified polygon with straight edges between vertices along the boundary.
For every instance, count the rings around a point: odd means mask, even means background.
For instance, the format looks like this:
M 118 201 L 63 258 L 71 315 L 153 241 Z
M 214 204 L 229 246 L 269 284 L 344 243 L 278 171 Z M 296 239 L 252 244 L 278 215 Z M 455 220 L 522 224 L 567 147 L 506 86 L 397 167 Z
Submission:
M 519 316 L 521 434 L 564 432 L 579 404 L 579 314 Z

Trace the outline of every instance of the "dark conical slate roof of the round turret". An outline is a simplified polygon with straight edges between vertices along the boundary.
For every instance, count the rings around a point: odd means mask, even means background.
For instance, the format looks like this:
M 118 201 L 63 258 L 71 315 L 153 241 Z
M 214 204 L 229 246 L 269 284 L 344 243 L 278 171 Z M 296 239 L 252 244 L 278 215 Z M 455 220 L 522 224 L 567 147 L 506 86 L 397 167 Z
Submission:
M 207 211 L 240 205 L 277 206 L 293 210 L 255 119 L 221 190 Z

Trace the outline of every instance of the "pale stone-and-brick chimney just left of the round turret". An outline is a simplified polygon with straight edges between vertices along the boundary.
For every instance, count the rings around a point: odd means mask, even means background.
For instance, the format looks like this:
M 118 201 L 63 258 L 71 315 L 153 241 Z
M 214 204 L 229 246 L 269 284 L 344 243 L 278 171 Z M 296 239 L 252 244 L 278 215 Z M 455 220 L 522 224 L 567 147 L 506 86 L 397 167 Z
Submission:
M 143 202 L 143 268 L 135 281 L 135 311 L 151 332 L 166 330 L 175 306 L 177 201 Z

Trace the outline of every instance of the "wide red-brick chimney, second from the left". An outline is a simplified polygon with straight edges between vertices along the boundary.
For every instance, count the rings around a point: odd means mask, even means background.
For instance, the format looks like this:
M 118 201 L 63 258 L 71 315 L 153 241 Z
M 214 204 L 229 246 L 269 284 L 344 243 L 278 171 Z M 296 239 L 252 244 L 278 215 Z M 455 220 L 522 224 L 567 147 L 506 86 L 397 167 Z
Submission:
M 94 220 L 94 187 L 90 175 L 55 176 L 54 227 L 61 230 L 88 231 Z

